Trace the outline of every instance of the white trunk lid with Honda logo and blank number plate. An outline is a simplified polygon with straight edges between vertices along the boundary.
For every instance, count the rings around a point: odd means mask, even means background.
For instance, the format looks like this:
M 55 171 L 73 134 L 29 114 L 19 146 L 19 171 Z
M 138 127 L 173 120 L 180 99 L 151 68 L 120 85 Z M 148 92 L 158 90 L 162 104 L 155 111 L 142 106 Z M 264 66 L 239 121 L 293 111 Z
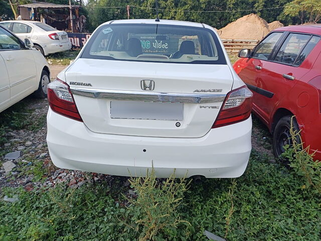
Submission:
M 224 96 L 233 85 L 228 65 L 211 64 L 80 58 L 68 68 L 65 77 L 70 88 L 78 90 L 73 92 L 74 99 L 89 130 L 146 137 L 204 136 L 211 129 Z M 144 84 L 142 80 L 147 81 Z M 153 80 L 153 86 L 150 86 L 153 90 L 148 89 L 149 80 Z M 142 90 L 146 86 L 147 90 Z M 96 91 L 96 94 L 79 94 L 81 90 Z M 116 95 L 103 97 L 104 93 L 97 94 L 97 91 L 120 91 L 124 98 Z M 154 93 L 158 93 L 158 99 L 166 102 L 159 102 L 155 98 L 137 98 L 144 94 L 152 96 Z M 216 102 L 191 103 L 176 101 L 171 96 L 165 96 L 166 93 L 215 94 L 221 97 Z

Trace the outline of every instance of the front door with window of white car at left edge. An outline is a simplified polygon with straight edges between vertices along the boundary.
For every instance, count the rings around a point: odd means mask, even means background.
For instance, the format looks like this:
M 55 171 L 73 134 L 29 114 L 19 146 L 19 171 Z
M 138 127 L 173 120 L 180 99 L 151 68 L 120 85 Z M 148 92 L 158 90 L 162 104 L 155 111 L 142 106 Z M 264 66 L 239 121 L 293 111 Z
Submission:
M 39 82 L 31 52 L 34 50 L 26 49 L 16 36 L 3 28 L 0 28 L 0 45 L 10 81 L 10 99 L 22 99 L 34 92 Z

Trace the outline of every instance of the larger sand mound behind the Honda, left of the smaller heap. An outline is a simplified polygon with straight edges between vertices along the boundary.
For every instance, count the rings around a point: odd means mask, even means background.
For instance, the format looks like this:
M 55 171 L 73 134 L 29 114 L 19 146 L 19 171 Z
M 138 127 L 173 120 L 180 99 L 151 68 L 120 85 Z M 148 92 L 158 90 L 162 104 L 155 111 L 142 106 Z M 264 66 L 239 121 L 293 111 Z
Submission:
M 249 14 L 218 30 L 221 39 L 262 39 L 270 32 L 267 22 Z

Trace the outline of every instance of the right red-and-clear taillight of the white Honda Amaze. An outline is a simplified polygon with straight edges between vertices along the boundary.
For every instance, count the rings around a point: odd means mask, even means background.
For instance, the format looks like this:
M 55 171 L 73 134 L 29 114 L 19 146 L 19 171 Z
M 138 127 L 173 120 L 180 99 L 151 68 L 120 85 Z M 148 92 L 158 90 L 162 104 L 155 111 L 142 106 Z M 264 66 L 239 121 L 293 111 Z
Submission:
M 251 115 L 253 93 L 242 86 L 231 90 L 225 98 L 222 108 L 212 128 L 242 122 Z

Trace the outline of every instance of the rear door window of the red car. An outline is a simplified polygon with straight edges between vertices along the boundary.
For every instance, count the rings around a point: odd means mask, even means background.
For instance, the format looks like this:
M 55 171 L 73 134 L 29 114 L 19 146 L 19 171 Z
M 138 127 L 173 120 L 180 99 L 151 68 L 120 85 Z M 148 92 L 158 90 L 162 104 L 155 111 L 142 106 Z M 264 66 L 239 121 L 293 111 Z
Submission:
M 289 34 L 277 52 L 274 61 L 292 65 L 311 35 Z

